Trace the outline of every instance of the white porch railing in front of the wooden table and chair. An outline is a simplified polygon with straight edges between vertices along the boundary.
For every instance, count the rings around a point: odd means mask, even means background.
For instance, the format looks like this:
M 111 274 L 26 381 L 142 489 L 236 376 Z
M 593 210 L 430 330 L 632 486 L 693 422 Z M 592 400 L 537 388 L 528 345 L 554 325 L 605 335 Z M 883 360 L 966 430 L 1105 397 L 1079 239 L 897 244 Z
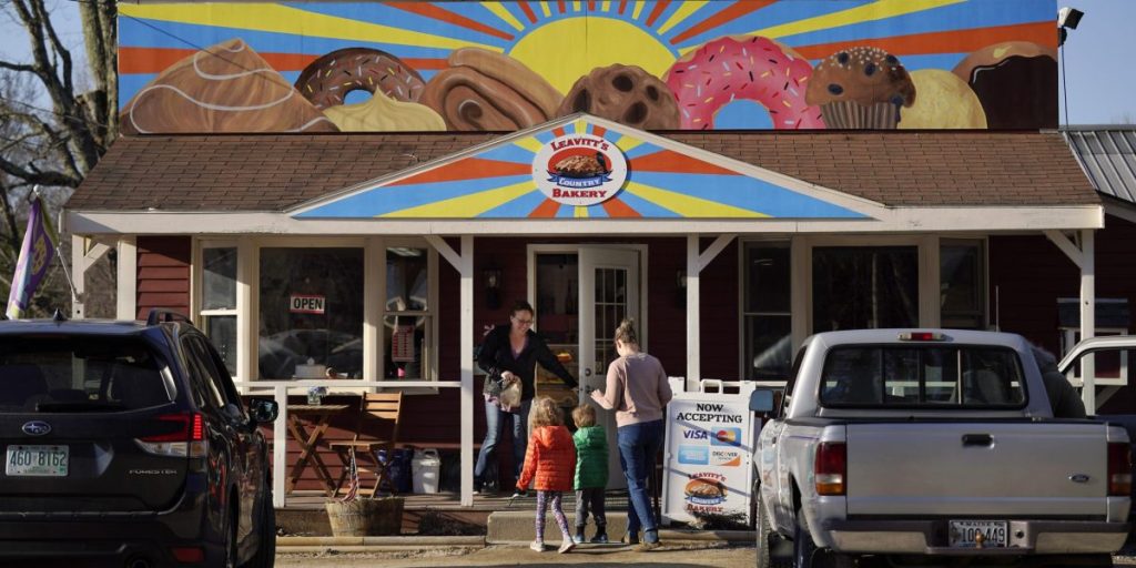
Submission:
M 327 387 L 328 392 L 342 389 L 407 389 L 434 387 L 460 389 L 460 381 L 356 381 L 343 378 L 320 378 L 304 381 L 236 381 L 234 384 L 241 393 L 249 396 L 272 393 L 279 406 L 279 416 L 273 424 L 273 506 L 283 508 L 287 501 L 284 494 L 284 481 L 287 476 L 287 395 L 290 391 L 308 393 L 312 386 Z M 465 454 L 466 452 L 462 452 Z M 462 463 L 465 469 L 473 470 L 473 463 Z M 465 470 L 463 469 L 463 470 Z

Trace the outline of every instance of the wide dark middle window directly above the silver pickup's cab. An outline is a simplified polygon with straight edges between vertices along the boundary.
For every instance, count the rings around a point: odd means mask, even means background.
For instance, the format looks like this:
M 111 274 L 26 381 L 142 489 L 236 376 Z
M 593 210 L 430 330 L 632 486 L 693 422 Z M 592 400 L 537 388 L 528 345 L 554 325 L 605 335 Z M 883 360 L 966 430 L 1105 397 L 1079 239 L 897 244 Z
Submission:
M 916 247 L 812 250 L 812 332 L 919 324 Z

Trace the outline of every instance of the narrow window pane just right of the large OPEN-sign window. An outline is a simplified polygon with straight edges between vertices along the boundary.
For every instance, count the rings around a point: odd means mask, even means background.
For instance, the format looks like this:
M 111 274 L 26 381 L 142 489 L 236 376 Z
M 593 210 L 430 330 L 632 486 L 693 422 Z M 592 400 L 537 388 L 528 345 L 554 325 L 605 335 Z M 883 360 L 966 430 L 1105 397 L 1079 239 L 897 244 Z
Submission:
M 431 351 L 435 307 L 429 295 L 429 249 L 423 247 L 386 249 L 385 378 L 433 378 Z

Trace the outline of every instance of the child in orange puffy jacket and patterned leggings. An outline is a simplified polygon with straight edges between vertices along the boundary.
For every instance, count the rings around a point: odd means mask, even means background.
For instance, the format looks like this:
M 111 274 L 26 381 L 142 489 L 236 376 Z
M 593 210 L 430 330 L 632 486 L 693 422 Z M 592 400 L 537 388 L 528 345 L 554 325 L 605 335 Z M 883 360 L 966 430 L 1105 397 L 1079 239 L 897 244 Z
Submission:
M 563 426 L 560 409 L 552 399 L 540 396 L 534 400 L 529 420 L 533 424 L 533 432 L 528 436 L 525 469 L 517 479 L 518 492 L 523 493 L 529 482 L 533 482 L 533 488 L 536 490 L 536 540 L 529 548 L 537 552 L 544 551 L 544 513 L 551 501 L 552 516 L 557 519 L 560 533 L 563 534 L 560 544 L 562 554 L 576 546 L 571 533 L 568 532 L 568 518 L 565 517 L 561 502 L 563 493 L 573 490 L 573 478 L 576 475 L 576 444 L 568 428 Z

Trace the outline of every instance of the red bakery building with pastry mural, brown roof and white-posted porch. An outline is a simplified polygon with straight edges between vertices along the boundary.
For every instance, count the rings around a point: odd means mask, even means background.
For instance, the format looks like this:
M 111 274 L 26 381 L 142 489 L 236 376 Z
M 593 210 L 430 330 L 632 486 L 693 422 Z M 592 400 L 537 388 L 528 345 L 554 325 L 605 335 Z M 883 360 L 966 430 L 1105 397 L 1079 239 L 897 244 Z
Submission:
M 623 317 L 670 375 L 782 381 L 828 329 L 1058 350 L 1056 299 L 1094 333 L 1094 243 L 1133 237 L 1054 130 L 1049 1 L 120 10 L 76 272 L 116 249 L 119 316 L 186 311 L 249 392 L 402 389 L 400 438 L 460 457 L 463 504 L 474 348 L 513 300 L 588 386 Z

